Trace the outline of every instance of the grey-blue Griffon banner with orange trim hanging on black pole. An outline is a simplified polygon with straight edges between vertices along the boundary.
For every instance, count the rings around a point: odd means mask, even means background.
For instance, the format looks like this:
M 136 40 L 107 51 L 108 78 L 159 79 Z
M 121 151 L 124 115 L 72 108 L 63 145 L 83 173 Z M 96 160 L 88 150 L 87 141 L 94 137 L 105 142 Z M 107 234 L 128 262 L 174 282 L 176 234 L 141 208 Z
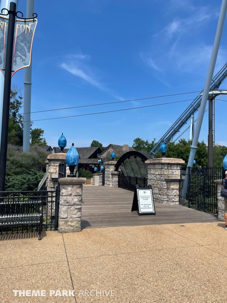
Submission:
M 12 76 L 31 62 L 31 47 L 37 19 L 16 19 L 13 45 Z M 0 16 L 0 70 L 5 75 L 5 54 L 7 44 L 8 18 Z

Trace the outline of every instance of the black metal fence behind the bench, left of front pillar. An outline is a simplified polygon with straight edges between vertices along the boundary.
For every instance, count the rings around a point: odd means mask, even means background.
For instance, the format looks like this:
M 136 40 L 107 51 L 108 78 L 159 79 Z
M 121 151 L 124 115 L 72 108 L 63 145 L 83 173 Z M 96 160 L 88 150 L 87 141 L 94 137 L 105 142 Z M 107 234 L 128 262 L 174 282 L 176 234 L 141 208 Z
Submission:
M 15 212 L 18 209 L 18 204 L 24 204 L 32 202 L 33 205 L 41 203 L 43 224 L 42 228 L 47 230 L 57 230 L 58 228 L 58 210 L 59 210 L 59 196 L 60 190 L 56 188 L 55 191 L 2 191 L 0 192 L 0 217 L 3 216 L 15 216 Z M 7 208 L 2 207 L 1 203 L 10 204 L 10 213 L 7 212 Z M 3 203 L 2 203 L 3 204 Z M 12 204 L 15 205 L 12 207 Z M 21 215 L 21 214 L 18 214 Z M 25 214 L 26 215 L 26 214 Z M 28 231 L 28 225 L 24 225 Z M 23 226 L 22 232 L 23 232 Z M 7 224 L 0 225 L 1 234 L 2 231 L 8 231 L 9 227 Z M 31 226 L 31 231 L 33 227 Z M 18 227 L 17 227 L 18 232 Z M 13 227 L 12 227 L 13 233 Z

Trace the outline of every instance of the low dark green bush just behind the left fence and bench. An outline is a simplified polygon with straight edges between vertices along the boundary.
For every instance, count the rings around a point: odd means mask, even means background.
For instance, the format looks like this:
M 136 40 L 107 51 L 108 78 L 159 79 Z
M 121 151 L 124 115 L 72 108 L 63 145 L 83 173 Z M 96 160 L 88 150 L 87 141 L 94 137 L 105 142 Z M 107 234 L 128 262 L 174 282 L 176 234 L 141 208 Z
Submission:
M 22 174 L 10 174 L 5 178 L 5 191 L 33 191 L 44 177 L 43 171 L 31 169 Z

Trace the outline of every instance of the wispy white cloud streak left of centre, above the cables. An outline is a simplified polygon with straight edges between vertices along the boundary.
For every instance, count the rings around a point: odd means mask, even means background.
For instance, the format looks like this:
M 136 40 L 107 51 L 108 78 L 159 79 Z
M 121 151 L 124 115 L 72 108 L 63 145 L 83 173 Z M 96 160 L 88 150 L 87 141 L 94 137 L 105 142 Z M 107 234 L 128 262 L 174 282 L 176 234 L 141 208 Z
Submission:
M 114 98 L 124 100 L 122 97 L 117 96 L 116 92 L 114 92 L 111 88 L 108 88 L 106 84 L 100 81 L 100 77 L 96 73 L 94 73 L 89 67 L 89 65 L 86 63 L 89 60 L 90 55 L 68 55 L 65 59 L 65 62 L 61 63 L 61 67 L 72 75 L 81 78 L 90 85 L 98 88 L 99 90 L 107 92 Z

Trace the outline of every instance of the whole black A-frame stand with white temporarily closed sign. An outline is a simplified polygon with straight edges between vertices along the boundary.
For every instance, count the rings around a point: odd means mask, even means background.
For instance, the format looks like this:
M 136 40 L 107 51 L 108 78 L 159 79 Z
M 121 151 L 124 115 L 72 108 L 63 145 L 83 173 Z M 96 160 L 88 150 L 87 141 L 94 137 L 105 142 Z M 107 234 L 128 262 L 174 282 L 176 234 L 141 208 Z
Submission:
M 151 185 L 148 187 L 139 187 L 139 185 L 136 185 L 131 211 L 138 211 L 139 216 L 156 215 Z

